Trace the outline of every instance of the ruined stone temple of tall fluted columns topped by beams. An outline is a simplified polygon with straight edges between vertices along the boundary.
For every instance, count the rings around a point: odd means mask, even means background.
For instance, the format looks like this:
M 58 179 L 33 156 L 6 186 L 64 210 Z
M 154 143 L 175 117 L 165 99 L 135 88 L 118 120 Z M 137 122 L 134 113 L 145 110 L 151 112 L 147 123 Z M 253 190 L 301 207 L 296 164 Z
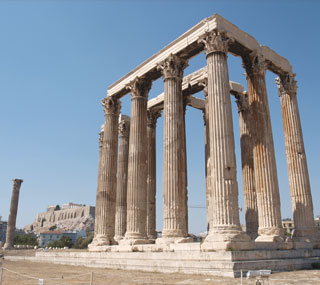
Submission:
M 188 60 L 202 52 L 207 65 L 184 77 Z M 248 90 L 229 81 L 227 55 L 241 57 Z M 295 230 L 285 237 L 265 73 L 278 77 Z M 152 81 L 164 93 L 148 101 Z M 192 95 L 203 90 L 205 100 Z M 130 117 L 120 114 L 131 95 Z M 231 111 L 240 124 L 246 231 L 239 220 Z M 204 19 L 108 88 L 100 134 L 95 236 L 90 251 L 186 250 L 317 252 L 319 234 L 297 105 L 295 74 L 288 60 L 221 16 Z M 208 236 L 188 235 L 185 110 L 203 112 Z M 163 230 L 155 231 L 156 122 L 164 117 Z M 180 248 L 182 248 L 180 246 Z M 135 247 L 135 250 L 133 250 Z M 313 249 L 314 248 L 314 249 Z M 313 250 L 312 250 L 313 249 Z M 290 254 L 289 254 L 290 255 Z M 288 255 L 288 256 L 289 256 Z

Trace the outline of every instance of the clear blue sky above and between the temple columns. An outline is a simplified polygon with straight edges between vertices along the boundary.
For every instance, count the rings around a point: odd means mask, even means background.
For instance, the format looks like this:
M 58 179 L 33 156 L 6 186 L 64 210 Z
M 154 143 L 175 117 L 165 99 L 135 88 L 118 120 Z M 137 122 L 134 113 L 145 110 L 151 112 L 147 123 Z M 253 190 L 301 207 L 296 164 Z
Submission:
M 8 218 L 12 178 L 22 178 L 17 226 L 47 205 L 95 205 L 98 133 L 107 88 L 203 18 L 218 13 L 286 57 L 297 73 L 298 101 L 315 215 L 320 214 L 319 1 L 1 1 L 0 215 Z M 190 61 L 185 74 L 204 66 Z M 241 61 L 229 56 L 230 79 L 246 88 Z M 291 203 L 275 75 L 267 89 L 282 217 Z M 150 98 L 163 90 L 154 82 Z M 202 93 L 197 94 L 203 97 Z M 232 99 L 242 198 L 239 125 Z M 130 98 L 123 100 L 130 115 Z M 189 205 L 205 206 L 202 114 L 187 109 Z M 157 129 L 157 229 L 162 229 L 163 117 Z M 242 222 L 243 213 L 241 212 Z M 189 209 L 190 232 L 206 229 L 205 209 Z

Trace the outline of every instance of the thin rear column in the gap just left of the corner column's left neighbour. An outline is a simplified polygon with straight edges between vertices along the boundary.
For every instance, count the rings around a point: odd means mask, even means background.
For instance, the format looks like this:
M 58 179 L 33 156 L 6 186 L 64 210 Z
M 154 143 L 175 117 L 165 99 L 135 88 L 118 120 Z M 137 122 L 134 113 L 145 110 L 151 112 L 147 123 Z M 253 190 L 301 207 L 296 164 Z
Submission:
M 161 111 L 147 112 L 147 237 L 156 239 L 156 125 Z

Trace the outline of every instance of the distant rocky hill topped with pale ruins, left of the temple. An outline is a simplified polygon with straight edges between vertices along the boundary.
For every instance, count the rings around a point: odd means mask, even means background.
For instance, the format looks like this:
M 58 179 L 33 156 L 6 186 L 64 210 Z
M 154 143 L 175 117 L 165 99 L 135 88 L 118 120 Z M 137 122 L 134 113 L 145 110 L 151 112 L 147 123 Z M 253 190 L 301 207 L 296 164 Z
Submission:
M 33 224 L 26 230 L 40 233 L 56 227 L 59 230 L 94 230 L 95 207 L 82 204 L 67 203 L 48 206 L 47 212 L 38 213 Z

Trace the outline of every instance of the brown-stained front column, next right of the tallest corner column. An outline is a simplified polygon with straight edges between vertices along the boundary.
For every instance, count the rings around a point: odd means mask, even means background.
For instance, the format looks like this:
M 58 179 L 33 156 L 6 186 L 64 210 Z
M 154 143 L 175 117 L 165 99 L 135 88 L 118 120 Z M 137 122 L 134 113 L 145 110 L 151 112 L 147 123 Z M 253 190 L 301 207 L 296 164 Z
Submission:
M 253 160 L 259 216 L 256 241 L 283 241 L 280 196 L 273 136 L 265 82 L 266 63 L 252 52 L 244 58 L 252 112 Z

